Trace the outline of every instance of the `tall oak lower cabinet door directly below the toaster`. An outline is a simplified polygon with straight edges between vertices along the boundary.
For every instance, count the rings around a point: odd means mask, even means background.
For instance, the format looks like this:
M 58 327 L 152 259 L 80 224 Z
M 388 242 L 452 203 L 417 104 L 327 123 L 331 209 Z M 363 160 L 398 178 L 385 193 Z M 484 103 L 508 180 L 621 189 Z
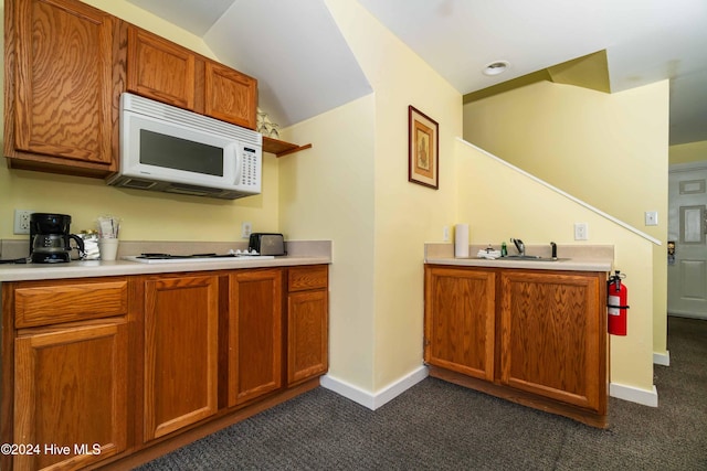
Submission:
M 229 406 L 282 386 L 282 269 L 230 277 Z

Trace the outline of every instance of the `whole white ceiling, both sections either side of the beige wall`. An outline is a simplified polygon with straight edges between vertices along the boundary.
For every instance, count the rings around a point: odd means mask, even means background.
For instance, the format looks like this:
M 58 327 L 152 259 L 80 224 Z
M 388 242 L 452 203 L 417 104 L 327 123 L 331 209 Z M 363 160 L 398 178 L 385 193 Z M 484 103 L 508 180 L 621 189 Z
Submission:
M 128 1 L 256 77 L 281 126 L 371 90 L 325 0 Z M 669 79 L 671 143 L 707 140 L 705 0 L 358 1 L 462 95 L 605 51 L 612 93 Z M 482 74 L 500 60 L 504 74 Z

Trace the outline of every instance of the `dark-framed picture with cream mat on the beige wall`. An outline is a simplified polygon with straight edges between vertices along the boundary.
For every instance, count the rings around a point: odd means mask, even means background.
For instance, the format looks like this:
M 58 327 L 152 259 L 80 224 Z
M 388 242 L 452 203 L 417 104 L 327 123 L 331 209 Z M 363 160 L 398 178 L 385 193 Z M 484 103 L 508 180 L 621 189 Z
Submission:
M 440 189 L 440 125 L 408 106 L 408 181 Z

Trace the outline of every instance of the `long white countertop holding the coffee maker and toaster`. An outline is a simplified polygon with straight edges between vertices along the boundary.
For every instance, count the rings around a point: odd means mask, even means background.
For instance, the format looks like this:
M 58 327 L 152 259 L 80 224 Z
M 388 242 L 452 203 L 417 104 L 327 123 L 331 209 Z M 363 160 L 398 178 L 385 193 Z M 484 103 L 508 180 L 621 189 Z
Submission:
M 284 256 L 267 260 L 247 259 L 223 261 L 184 261 L 172 264 L 141 264 L 128 260 L 83 260 L 68 264 L 27 264 L 0 266 L 0 281 L 55 280 L 65 278 L 154 275 L 183 271 L 238 270 L 243 268 L 291 267 L 330 264 L 328 256 Z

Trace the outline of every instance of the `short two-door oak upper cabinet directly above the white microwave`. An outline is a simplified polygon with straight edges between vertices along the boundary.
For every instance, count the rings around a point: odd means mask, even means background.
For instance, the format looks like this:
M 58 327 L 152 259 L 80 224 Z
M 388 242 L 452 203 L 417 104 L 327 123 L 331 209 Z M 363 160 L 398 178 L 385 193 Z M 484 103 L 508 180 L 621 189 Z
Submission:
M 255 129 L 255 78 L 134 25 L 128 26 L 127 89 Z

